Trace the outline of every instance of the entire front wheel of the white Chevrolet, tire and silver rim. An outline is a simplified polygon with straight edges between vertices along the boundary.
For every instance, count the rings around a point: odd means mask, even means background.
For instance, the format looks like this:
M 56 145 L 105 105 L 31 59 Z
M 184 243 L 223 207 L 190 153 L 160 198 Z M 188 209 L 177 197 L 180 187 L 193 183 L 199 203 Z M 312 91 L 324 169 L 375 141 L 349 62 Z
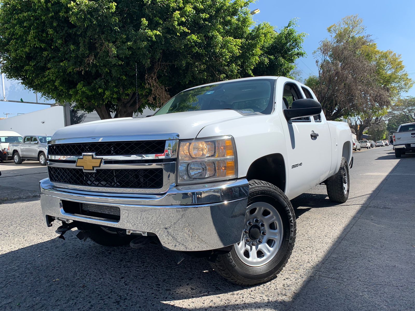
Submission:
M 295 233 L 294 209 L 284 192 L 269 182 L 251 180 L 241 241 L 211 265 L 236 284 L 268 282 L 290 258 Z

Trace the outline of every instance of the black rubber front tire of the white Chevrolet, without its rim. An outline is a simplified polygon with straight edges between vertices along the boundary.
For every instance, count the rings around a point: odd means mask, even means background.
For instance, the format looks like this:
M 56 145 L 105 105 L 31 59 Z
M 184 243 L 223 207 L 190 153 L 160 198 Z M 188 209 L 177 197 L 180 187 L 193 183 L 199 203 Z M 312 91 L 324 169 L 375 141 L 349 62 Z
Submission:
M 251 267 L 239 259 L 233 246 L 229 253 L 218 255 L 214 262 L 210 262 L 213 269 L 222 277 L 244 286 L 260 284 L 274 279 L 285 267 L 295 243 L 295 213 L 284 192 L 269 182 L 251 180 L 249 181 L 247 206 L 255 202 L 271 204 L 276 208 L 283 221 L 283 241 L 276 255 L 264 265 Z

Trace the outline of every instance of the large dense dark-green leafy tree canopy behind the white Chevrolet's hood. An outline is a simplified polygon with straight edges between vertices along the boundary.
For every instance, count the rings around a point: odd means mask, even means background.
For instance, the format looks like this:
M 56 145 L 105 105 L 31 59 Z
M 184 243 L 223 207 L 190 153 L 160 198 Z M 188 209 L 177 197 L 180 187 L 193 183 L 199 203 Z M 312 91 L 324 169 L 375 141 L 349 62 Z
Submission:
M 154 108 L 186 87 L 289 75 L 304 33 L 255 24 L 253 0 L 3 0 L 9 78 L 101 119 Z

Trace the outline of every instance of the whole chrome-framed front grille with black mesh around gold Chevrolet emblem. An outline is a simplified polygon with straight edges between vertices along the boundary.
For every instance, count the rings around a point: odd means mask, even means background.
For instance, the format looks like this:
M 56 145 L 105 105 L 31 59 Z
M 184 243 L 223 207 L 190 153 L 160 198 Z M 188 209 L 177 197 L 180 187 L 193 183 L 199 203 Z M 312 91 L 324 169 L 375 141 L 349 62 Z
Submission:
M 56 187 L 101 192 L 164 193 L 176 180 L 178 134 L 59 138 L 48 143 L 49 179 Z M 100 166 L 76 166 L 93 155 Z

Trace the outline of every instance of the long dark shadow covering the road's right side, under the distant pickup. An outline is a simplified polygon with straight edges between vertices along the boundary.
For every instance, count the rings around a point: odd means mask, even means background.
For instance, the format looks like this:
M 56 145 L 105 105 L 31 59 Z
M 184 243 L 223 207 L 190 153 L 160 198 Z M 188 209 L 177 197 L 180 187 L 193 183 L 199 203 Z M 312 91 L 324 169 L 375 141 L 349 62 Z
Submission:
M 410 195 L 400 175 L 413 169 L 405 159 L 395 165 L 312 268 L 301 290 L 292 301 L 280 301 L 278 310 L 415 309 L 415 204 L 393 204 L 395 199 L 385 194 L 395 193 L 398 200 Z M 415 176 L 405 178 L 406 185 L 415 184 Z

